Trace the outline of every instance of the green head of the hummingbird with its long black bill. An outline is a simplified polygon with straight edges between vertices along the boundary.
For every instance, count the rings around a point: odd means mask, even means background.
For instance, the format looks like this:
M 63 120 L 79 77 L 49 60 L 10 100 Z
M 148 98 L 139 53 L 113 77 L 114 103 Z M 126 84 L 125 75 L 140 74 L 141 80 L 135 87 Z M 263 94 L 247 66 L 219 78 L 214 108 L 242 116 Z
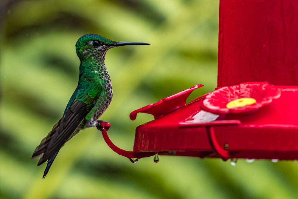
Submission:
M 103 58 L 107 50 L 117 46 L 125 45 L 150 45 L 142 42 L 118 42 L 97 34 L 83 35 L 77 41 L 75 47 L 77 56 L 82 60 L 88 57 Z

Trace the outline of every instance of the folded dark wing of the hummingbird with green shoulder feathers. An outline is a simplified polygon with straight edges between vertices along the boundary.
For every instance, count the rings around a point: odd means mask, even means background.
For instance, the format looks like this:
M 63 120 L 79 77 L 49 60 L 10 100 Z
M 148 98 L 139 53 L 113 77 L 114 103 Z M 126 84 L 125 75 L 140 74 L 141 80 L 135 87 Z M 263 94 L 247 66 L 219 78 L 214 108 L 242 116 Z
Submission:
M 36 147 L 32 158 L 41 157 L 37 166 L 46 162 L 59 151 L 91 111 L 100 96 L 101 87 L 97 86 L 95 90 L 93 90 L 91 97 L 91 92 L 88 92 L 86 95 L 74 98 L 63 117 L 54 125 L 52 131 L 41 141 L 41 144 Z

